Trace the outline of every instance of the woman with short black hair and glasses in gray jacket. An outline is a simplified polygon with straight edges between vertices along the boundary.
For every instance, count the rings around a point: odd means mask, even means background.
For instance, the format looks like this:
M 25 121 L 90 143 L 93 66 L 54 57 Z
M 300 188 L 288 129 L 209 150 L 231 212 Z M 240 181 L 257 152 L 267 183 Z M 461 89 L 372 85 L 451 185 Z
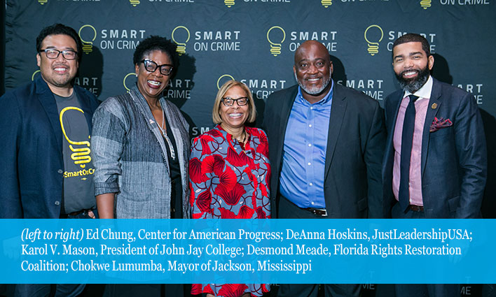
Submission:
M 150 36 L 133 62 L 137 85 L 106 99 L 91 136 L 100 218 L 190 217 L 188 124 L 162 92 L 176 71 L 175 43 Z

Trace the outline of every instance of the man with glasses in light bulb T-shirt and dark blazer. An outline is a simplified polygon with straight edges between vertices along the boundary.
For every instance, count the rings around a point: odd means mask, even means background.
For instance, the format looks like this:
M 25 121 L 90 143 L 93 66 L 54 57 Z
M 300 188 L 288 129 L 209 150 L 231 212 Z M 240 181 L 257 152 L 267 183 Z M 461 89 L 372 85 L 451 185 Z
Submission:
M 95 218 L 89 136 L 98 101 L 72 85 L 81 48 L 74 29 L 44 28 L 36 38 L 41 76 L 0 97 L 0 218 Z M 18 284 L 15 296 L 77 296 L 84 287 Z

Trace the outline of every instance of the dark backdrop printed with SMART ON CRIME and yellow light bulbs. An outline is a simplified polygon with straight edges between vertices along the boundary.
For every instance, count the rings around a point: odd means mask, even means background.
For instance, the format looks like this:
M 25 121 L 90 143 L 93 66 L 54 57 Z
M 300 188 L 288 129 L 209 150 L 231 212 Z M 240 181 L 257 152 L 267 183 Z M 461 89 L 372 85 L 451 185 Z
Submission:
M 382 106 L 398 88 L 392 43 L 419 33 L 431 44 L 434 77 L 474 94 L 495 160 L 495 0 L 6 0 L 6 91 L 40 75 L 36 36 L 56 22 L 78 31 L 84 46 L 76 84 L 102 101 L 135 84 L 139 41 L 160 35 L 177 43 L 179 71 L 165 96 L 193 137 L 212 128 L 214 97 L 230 79 L 252 90 L 260 124 L 270 93 L 296 83 L 294 52 L 309 39 L 329 50 L 338 84 Z M 494 167 L 489 174 L 494 181 Z M 488 182 L 492 194 L 495 184 Z

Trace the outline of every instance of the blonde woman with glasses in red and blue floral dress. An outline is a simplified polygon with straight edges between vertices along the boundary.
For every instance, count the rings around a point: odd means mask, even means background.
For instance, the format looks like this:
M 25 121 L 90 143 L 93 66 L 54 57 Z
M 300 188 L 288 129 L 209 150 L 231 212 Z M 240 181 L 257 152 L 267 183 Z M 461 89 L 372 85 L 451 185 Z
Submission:
M 195 138 L 189 162 L 191 210 L 195 219 L 269 219 L 270 164 L 266 133 L 254 122 L 252 92 L 230 80 L 217 93 L 214 129 Z M 249 297 L 268 284 L 193 284 L 191 294 Z

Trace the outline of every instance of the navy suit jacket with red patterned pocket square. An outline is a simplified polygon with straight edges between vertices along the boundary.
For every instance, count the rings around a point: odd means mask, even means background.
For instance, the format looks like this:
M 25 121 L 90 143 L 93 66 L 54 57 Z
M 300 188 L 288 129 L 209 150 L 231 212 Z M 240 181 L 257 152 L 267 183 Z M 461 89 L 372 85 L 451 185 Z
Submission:
M 383 167 L 386 203 L 392 193 L 393 134 L 404 91 L 384 102 L 387 145 Z M 430 132 L 434 117 L 450 119 L 452 126 Z M 484 127 L 474 96 L 434 79 L 422 133 L 422 198 L 427 218 L 476 218 L 487 171 Z

